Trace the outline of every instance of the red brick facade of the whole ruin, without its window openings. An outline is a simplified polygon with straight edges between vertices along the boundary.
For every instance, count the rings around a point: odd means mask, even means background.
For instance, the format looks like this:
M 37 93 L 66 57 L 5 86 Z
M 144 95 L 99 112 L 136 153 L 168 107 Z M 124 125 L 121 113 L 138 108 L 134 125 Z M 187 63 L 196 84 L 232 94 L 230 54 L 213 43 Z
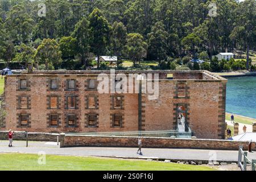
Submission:
M 140 73 L 140 72 L 138 72 Z M 161 73 L 162 76 L 168 72 Z M 172 72 L 170 72 L 172 73 Z M 173 72 L 180 78 L 189 78 L 189 73 Z M 7 76 L 5 84 L 6 102 L 6 127 L 2 130 L 24 130 L 17 127 L 17 113 L 31 114 L 31 127 L 28 131 L 37 132 L 104 132 L 104 131 L 137 131 L 138 130 L 138 94 L 124 94 L 124 109 L 110 109 L 110 94 L 98 94 L 96 91 L 85 91 L 86 78 L 93 75 L 18 75 Z M 178 80 L 160 80 L 159 99 L 148 100 L 147 94 L 142 94 L 142 129 L 143 130 L 172 130 L 176 122 L 175 105 L 179 103 L 188 105 L 188 124 L 192 132 L 198 138 L 224 138 L 225 128 L 225 80 L 192 80 L 201 79 L 204 73 L 191 73 L 191 80 L 183 80 L 187 83 L 188 97 L 175 98 L 176 84 Z M 18 78 L 28 78 L 31 83 L 30 91 L 16 91 Z M 61 80 L 61 89 L 58 92 L 47 91 L 48 79 L 58 77 Z M 204 77 L 206 77 L 204 75 Z M 75 78 L 78 82 L 78 91 L 64 91 L 65 80 Z M 65 110 L 64 96 L 74 93 L 79 96 L 79 109 Z M 17 110 L 16 96 L 26 94 L 31 98 L 31 109 Z M 47 109 L 47 96 L 57 94 L 61 96 L 61 105 L 58 110 Z M 95 94 L 98 96 L 99 109 L 85 109 L 85 96 Z M 60 127 L 52 128 L 47 125 L 47 114 L 60 114 Z M 78 115 L 79 127 L 65 127 L 65 114 L 76 113 Z M 98 127 L 85 127 L 85 114 L 98 114 Z M 110 127 L 111 114 L 123 114 L 123 127 Z

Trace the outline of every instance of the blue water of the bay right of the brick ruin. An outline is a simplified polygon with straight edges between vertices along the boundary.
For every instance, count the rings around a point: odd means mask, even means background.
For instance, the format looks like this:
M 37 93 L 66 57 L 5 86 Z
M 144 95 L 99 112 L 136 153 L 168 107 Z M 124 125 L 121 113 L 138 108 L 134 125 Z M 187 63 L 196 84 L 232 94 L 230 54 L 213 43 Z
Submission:
M 256 119 L 256 76 L 228 78 L 226 111 Z

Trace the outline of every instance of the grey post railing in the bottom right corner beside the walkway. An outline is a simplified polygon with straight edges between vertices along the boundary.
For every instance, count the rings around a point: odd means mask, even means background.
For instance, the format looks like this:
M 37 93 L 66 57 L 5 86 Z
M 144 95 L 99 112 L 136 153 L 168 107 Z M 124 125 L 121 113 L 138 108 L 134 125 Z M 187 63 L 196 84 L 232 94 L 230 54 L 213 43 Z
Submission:
M 242 164 L 242 156 L 243 156 L 243 164 Z M 251 171 L 255 171 L 256 159 L 250 160 L 247 157 L 247 151 L 243 151 L 243 146 L 239 146 L 239 149 L 238 149 L 238 167 L 240 167 L 242 171 L 246 171 L 247 170 L 247 163 L 251 164 Z

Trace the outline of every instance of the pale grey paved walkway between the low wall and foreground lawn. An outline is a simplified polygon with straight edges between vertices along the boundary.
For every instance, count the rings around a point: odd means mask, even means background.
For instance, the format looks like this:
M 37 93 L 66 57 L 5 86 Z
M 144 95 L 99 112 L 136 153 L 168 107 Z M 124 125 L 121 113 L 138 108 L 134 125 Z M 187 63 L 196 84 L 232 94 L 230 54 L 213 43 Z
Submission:
M 123 158 L 154 158 L 171 160 L 217 160 L 236 162 L 238 151 L 225 150 L 195 150 L 172 148 L 142 148 L 143 155 L 136 154 L 137 148 L 123 147 L 71 147 L 59 148 L 55 142 L 28 142 L 14 141 L 14 147 L 8 147 L 7 140 L 0 140 L 0 152 L 25 152 L 38 154 L 44 151 L 46 154 L 76 155 L 76 156 L 106 156 Z M 250 159 L 256 159 L 256 152 L 249 152 Z

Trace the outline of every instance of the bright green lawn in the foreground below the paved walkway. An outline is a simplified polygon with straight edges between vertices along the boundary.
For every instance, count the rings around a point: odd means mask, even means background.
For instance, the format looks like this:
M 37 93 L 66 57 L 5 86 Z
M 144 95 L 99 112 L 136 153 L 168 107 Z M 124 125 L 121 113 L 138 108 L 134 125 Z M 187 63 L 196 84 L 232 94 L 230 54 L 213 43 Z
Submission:
M 84 171 L 210 171 L 206 166 L 150 162 L 145 160 L 106 159 L 78 156 L 47 155 L 46 164 L 38 164 L 35 154 L 0 154 L 0 170 L 84 170 Z

